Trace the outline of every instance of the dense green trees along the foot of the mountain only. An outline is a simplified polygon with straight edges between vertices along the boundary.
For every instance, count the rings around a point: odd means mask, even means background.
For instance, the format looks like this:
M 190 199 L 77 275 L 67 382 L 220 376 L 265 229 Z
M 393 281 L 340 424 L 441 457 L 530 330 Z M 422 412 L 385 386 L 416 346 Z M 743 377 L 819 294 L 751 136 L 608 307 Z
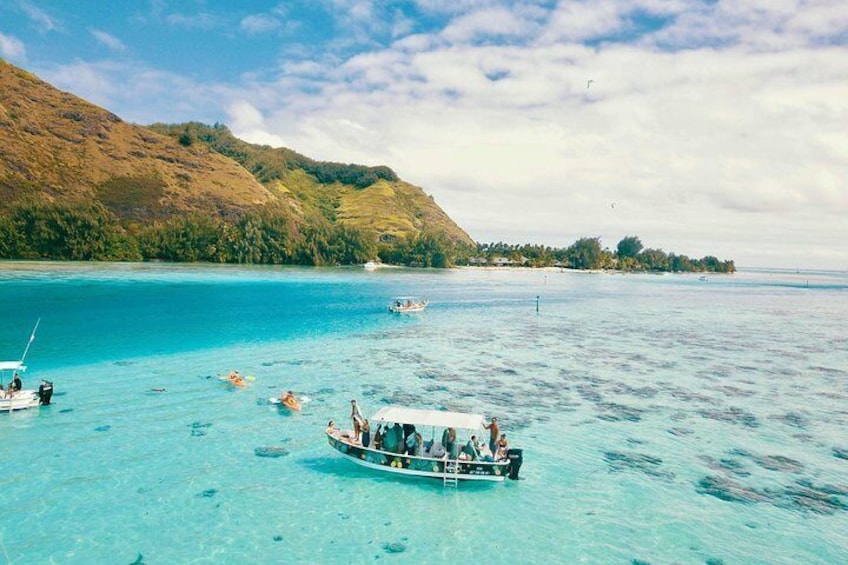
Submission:
M 0 213 L 0 258 L 67 261 L 173 261 L 278 265 L 353 265 L 383 261 L 422 267 L 456 264 L 446 237 L 379 240 L 328 221 L 295 225 L 273 208 L 236 217 L 188 213 L 121 222 L 100 203 L 34 202 Z

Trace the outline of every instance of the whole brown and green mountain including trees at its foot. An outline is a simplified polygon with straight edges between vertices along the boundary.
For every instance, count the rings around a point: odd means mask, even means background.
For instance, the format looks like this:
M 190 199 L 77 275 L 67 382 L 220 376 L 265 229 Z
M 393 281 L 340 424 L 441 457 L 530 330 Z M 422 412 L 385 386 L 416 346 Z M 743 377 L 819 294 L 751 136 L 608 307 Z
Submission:
M 388 167 L 128 124 L 0 59 L 0 258 L 442 266 L 472 244 Z

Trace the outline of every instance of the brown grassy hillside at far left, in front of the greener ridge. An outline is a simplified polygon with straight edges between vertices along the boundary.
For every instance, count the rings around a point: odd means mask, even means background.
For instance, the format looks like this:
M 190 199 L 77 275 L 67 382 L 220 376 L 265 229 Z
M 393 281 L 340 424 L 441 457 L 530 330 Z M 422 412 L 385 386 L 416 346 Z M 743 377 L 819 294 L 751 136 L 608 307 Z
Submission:
M 98 201 L 119 217 L 149 220 L 276 199 L 208 147 L 128 124 L 2 60 L 0 92 L 0 208 Z

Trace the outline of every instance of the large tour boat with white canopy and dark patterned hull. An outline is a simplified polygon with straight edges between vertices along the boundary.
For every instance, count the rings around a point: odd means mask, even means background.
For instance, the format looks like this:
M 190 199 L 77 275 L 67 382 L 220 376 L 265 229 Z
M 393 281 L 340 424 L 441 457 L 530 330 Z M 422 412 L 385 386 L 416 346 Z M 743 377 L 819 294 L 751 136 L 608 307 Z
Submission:
M 472 434 L 476 434 L 479 439 L 488 434 L 483 428 L 486 420 L 481 414 L 384 406 L 368 421 L 373 433 L 380 427 L 385 427 L 386 434 L 402 434 L 399 438 L 396 436 L 400 441 L 389 442 L 387 439 L 381 449 L 377 449 L 371 441 L 366 447 L 354 437 L 353 431 L 340 430 L 331 422 L 326 429 L 330 446 L 345 458 L 363 467 L 399 475 L 441 479 L 446 485 L 455 486 L 460 480 L 503 481 L 506 477 L 518 479 L 518 470 L 522 463 L 521 449 L 509 449 L 505 459 L 494 461 L 491 456 L 472 458 L 462 448 Z M 458 446 L 453 450 L 453 457 L 441 442 L 443 431 L 449 428 L 455 430 L 454 442 Z M 409 443 L 406 440 L 410 435 L 418 435 L 419 439 L 423 440 L 420 449 L 414 449 L 417 455 L 400 452 L 407 450 Z M 428 436 L 429 439 L 424 440 Z M 389 443 L 397 443 L 399 447 L 392 450 Z M 486 450 L 485 447 L 483 449 Z

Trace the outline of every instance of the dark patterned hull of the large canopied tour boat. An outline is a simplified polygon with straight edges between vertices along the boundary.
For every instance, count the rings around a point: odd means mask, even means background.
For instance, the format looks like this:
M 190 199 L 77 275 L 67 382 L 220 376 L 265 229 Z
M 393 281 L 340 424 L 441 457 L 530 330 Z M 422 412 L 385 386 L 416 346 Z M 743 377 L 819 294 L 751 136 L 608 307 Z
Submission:
M 345 441 L 339 434 L 327 432 L 330 446 L 354 463 L 388 473 L 414 477 L 430 477 L 433 479 L 456 478 L 461 481 L 493 481 L 503 482 L 507 475 L 509 462 L 487 461 L 448 461 L 430 457 L 413 457 L 387 451 L 369 449 Z M 458 472 L 445 473 L 446 464 L 456 464 Z

